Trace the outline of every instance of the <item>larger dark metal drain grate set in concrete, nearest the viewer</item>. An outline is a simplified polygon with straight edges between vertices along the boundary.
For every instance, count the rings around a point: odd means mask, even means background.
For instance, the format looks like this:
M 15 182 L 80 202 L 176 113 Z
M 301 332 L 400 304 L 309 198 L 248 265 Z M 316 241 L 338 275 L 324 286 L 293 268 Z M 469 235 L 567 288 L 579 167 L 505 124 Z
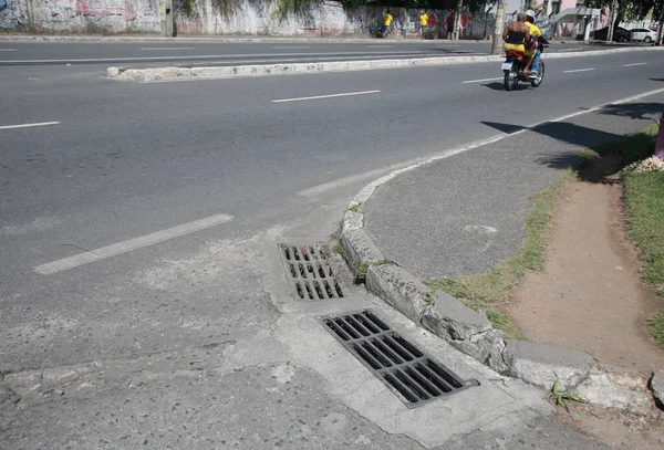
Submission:
M 370 310 L 320 317 L 319 322 L 409 408 L 479 385 L 474 379 L 461 380 Z

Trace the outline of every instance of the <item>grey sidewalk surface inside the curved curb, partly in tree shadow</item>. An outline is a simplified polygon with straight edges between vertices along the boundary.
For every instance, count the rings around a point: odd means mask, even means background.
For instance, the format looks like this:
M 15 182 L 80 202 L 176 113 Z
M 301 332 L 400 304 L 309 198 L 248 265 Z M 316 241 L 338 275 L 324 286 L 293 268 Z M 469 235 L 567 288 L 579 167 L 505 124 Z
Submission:
M 651 125 L 663 103 L 658 93 L 530 130 L 509 117 L 480 123 L 508 136 L 380 186 L 360 208 L 364 230 L 387 260 L 416 278 L 486 272 L 520 249 L 531 195 L 584 148 Z

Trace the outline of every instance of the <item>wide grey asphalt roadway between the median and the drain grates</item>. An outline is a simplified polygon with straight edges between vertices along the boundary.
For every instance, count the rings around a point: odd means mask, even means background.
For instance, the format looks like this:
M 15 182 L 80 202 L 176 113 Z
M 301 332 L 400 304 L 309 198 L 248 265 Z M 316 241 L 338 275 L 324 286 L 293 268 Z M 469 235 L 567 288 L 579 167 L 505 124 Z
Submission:
M 339 400 L 375 380 L 352 375 L 363 366 L 313 318 L 289 334 L 292 317 L 371 299 L 349 283 L 346 303 L 293 302 L 277 243 L 326 240 L 365 184 L 495 135 L 486 123 L 525 126 L 662 88 L 663 69 L 652 52 L 551 60 L 540 88 L 506 93 L 496 63 L 155 84 L 89 64 L 2 67 L 0 376 L 25 391 L 22 412 L 0 421 L 0 447 L 271 448 L 295 439 L 282 430 L 300 419 L 313 425 L 297 425 L 298 439 L 319 439 L 304 448 L 421 448 L 402 435 L 427 423 L 403 406 Z M 352 376 L 325 375 L 328 360 Z M 404 416 L 378 427 L 359 408 Z

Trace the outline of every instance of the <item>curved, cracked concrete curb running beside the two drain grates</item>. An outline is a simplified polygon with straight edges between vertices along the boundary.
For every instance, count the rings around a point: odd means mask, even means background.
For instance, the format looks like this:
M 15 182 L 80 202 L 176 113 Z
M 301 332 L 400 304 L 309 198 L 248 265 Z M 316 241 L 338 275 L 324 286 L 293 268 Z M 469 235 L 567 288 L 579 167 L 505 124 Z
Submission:
M 411 168 L 435 160 L 438 158 Z M 475 312 L 449 294 L 432 292 L 405 269 L 386 262 L 364 230 L 362 203 L 370 199 L 378 186 L 407 170 L 395 170 L 367 185 L 351 200 L 343 218 L 342 255 L 355 272 L 359 268 L 367 268 L 365 285 L 369 292 L 501 375 L 520 378 L 547 390 L 552 388 L 558 378 L 559 391 L 577 393 L 592 405 L 619 408 L 639 416 L 652 414 L 653 417 L 660 417 L 653 411 L 655 398 L 661 400 L 664 389 L 662 374 L 653 376 L 649 385 L 649 378 L 643 375 L 605 369 L 584 352 L 551 344 L 505 339 L 504 333 L 492 327 L 483 311 Z

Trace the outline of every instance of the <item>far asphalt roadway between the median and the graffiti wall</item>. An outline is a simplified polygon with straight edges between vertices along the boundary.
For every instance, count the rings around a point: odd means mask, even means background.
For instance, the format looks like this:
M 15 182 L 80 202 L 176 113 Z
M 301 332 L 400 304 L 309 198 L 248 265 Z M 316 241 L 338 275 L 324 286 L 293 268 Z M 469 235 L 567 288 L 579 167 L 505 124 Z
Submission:
M 642 44 L 623 44 L 621 46 Z M 548 51 L 584 52 L 604 45 L 554 43 Z M 375 41 L 367 43 L 227 43 L 174 40 L 145 42 L 1 42 L 0 66 L 46 64 L 238 65 L 277 62 L 346 61 L 489 54 L 489 42 Z

